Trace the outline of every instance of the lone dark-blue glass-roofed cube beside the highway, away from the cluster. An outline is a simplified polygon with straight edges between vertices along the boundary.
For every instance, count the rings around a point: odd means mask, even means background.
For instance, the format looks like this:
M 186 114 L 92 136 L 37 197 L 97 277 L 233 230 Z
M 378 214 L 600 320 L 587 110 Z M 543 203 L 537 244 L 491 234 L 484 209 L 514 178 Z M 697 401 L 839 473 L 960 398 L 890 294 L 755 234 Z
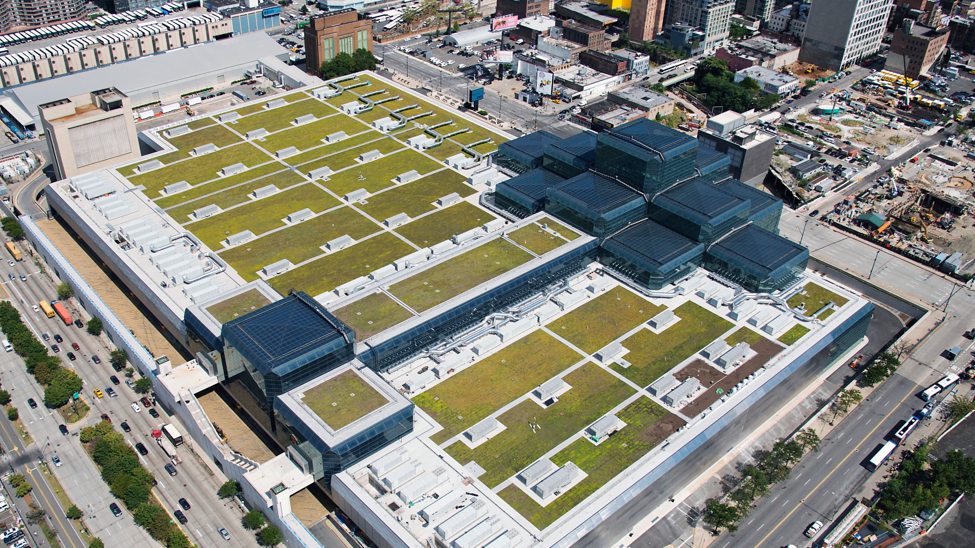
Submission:
M 274 425 L 274 398 L 352 360 L 355 333 L 318 301 L 291 294 L 223 324 L 226 346 L 245 360 L 235 375 L 254 395 L 262 394 Z

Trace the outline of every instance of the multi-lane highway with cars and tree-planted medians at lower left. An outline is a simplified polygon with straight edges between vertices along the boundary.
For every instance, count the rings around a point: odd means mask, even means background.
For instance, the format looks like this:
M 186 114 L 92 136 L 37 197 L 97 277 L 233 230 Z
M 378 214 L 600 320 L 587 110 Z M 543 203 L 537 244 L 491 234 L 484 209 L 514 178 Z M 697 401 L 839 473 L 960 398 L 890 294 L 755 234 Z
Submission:
M 94 462 L 78 445 L 76 436 L 81 428 L 95 424 L 101 413 L 107 413 L 118 431 L 121 431 L 118 425 L 122 421 L 128 422 L 131 426 L 132 432 L 125 434 L 130 444 L 141 442 L 149 450 L 147 455 L 140 455 L 139 459 L 149 471 L 155 474 L 158 486 L 154 492 L 162 504 L 172 513 L 178 509 L 179 498 L 185 497 L 189 500 L 192 508 L 184 512 L 189 522 L 182 527 L 194 544 L 252 546 L 252 535 L 241 526 L 242 513 L 236 504 L 220 500 L 216 496 L 216 490 L 226 481 L 221 474 L 213 472 L 209 466 L 194 456 L 187 445 L 178 449 L 182 463 L 177 465 L 176 477 L 170 477 L 163 469 L 163 465 L 169 460 L 149 433 L 167 422 L 176 423 L 181 432 L 186 432 L 178 419 L 175 416 L 168 416 L 161 407 L 155 408 L 160 413 L 159 418 L 152 418 L 144 409 L 140 412 L 133 411 L 130 405 L 137 401 L 139 395 L 124 382 L 114 385 L 109 379 L 114 374 L 120 381 L 124 381 L 125 376 L 123 372 L 113 371 L 109 365 L 109 348 L 101 337 L 92 336 L 73 325 L 65 326 L 57 317 L 48 318 L 43 313 L 33 312 L 32 304 L 42 299 L 50 301 L 56 298 L 57 289 L 47 275 L 39 272 L 38 268 L 30 262 L 30 256 L 24 255 L 25 260 L 16 263 L 13 267 L 6 263 L 0 265 L 0 276 L 3 276 L 4 287 L 12 295 L 12 302 L 20 308 L 24 322 L 39 339 L 41 333 L 51 333 L 52 339 L 43 341 L 50 344 L 55 342 L 53 339 L 55 333 L 63 337 L 57 355 L 63 360 L 65 367 L 73 367 L 85 380 L 82 398 L 91 405 L 92 411 L 80 422 L 68 425 L 70 435 L 62 436 L 58 429 L 58 425 L 62 422 L 58 411 L 44 407 L 43 389 L 24 370 L 20 358 L 13 353 L 7 353 L 4 356 L 4 369 L 8 370 L 3 377 L 4 388 L 11 392 L 13 405 L 20 410 L 20 417 L 27 430 L 42 446 L 40 448 L 30 446 L 26 450 L 20 448 L 20 451 L 29 455 L 30 460 L 37 458 L 39 450 L 45 460 L 50 460 L 53 453 L 58 453 L 63 465 L 55 468 L 55 472 L 61 485 L 75 505 L 85 513 L 86 523 L 94 534 L 101 537 L 106 546 L 129 548 L 134 539 L 140 539 L 140 544 L 151 542 L 147 533 L 135 525 L 132 516 L 124 509 L 121 501 L 119 501 L 119 505 L 123 507 L 121 517 L 116 518 L 108 510 L 108 504 L 116 499 L 101 480 Z M 8 277 L 9 273 L 24 274 L 27 279 L 23 282 L 20 279 L 12 281 Z M 20 299 L 23 300 L 22 304 Z M 73 350 L 72 342 L 78 343 L 80 350 Z M 76 361 L 69 361 L 66 358 L 68 351 L 77 356 Z M 100 364 L 91 361 L 93 354 L 101 359 Z M 176 357 L 176 360 L 178 361 L 179 358 Z M 116 391 L 117 397 L 110 398 L 107 394 L 103 398 L 95 396 L 93 392 L 95 388 L 100 388 L 104 392 L 108 386 Z M 30 409 L 26 402 L 28 398 L 38 402 L 39 407 Z M 142 407 L 141 404 L 139 407 Z M 227 541 L 216 532 L 220 527 L 230 531 L 229 544 L 225 544 Z

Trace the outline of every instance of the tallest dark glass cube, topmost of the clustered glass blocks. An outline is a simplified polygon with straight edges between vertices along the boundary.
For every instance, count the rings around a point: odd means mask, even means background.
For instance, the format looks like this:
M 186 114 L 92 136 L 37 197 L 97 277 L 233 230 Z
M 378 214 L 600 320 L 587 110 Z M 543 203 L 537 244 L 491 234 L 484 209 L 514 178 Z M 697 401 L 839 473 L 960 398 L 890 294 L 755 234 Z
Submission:
M 597 137 L 596 169 L 652 196 L 694 176 L 697 139 L 639 119 Z

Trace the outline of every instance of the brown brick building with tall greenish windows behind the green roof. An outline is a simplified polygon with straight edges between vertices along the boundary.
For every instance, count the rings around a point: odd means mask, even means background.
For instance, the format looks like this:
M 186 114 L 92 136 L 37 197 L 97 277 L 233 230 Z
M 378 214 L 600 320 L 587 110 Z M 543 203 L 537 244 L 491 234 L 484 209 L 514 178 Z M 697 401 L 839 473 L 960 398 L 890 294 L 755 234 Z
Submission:
M 372 23 L 355 9 L 313 16 L 305 32 L 305 71 L 318 74 L 322 63 L 345 52 L 350 56 L 362 48 L 372 51 Z

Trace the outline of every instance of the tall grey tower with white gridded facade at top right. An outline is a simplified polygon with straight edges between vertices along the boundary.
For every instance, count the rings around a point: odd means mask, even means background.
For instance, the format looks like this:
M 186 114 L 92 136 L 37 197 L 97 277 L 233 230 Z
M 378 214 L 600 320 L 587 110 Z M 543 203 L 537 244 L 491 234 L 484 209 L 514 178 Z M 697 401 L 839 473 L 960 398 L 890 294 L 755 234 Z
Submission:
M 880 49 L 890 0 L 814 0 L 799 59 L 841 70 Z

